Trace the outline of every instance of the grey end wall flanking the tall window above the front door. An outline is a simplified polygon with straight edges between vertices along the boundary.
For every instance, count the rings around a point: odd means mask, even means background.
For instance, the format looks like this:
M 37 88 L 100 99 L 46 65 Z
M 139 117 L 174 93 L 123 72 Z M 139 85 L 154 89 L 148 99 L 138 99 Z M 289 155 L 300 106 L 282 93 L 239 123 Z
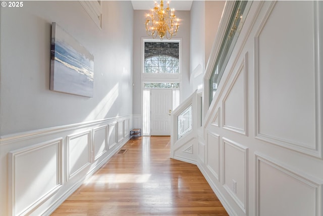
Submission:
M 145 20 L 147 11 L 134 11 L 134 35 L 133 35 L 133 72 L 134 72 L 134 88 L 133 88 L 133 114 L 141 114 L 141 65 L 142 65 L 142 49 L 141 39 L 149 38 L 146 34 Z M 182 100 L 190 95 L 189 87 L 189 61 L 190 61 L 190 12 L 176 11 L 176 16 L 180 18 L 181 25 L 178 34 L 174 39 L 182 39 Z M 166 39 L 165 39 L 166 41 Z

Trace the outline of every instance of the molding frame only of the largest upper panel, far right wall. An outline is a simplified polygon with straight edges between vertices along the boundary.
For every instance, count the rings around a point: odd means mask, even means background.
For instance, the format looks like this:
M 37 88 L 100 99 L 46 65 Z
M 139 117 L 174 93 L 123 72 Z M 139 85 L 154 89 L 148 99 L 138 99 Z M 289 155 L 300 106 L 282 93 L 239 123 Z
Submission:
M 321 20 L 323 20 L 323 7 L 319 7 L 319 5 L 321 5 L 321 3 L 319 1 L 314 1 L 312 2 L 313 4 L 313 41 L 314 44 L 312 45 L 313 47 L 313 71 L 308 71 L 308 73 L 313 73 L 311 75 L 313 75 L 313 82 L 310 85 L 311 87 L 313 87 L 313 93 L 314 95 L 314 101 L 312 104 L 313 106 L 313 112 L 311 112 L 311 114 L 313 115 L 313 117 L 310 117 L 311 120 L 309 121 L 313 121 L 313 124 L 309 123 L 303 124 L 302 127 L 305 129 L 308 128 L 308 126 L 313 127 L 313 130 L 310 130 L 313 133 L 313 136 L 307 135 L 307 132 L 304 132 L 303 134 L 300 131 L 295 131 L 294 134 L 297 134 L 299 137 L 305 137 L 307 136 L 306 139 L 303 138 L 303 140 L 300 140 L 298 138 L 292 139 L 293 136 L 289 135 L 287 137 L 287 135 L 284 134 L 281 136 L 276 135 L 275 133 L 271 132 L 264 132 L 263 128 L 261 128 L 260 123 L 261 118 L 260 118 L 260 110 L 264 109 L 264 107 L 260 107 L 260 99 L 261 99 L 261 95 L 260 95 L 260 88 L 261 88 L 261 84 L 260 84 L 260 55 L 261 55 L 261 47 L 259 45 L 259 40 L 260 40 L 260 35 L 262 33 L 262 31 L 264 30 L 266 24 L 268 23 L 268 20 L 271 19 L 271 15 L 273 13 L 273 11 L 276 9 L 277 4 L 281 4 L 280 1 L 278 2 L 273 2 L 271 4 L 271 6 L 268 8 L 255 36 L 254 36 L 254 81 L 255 81 L 255 138 L 259 139 L 259 140 L 263 140 L 266 141 L 268 143 L 271 144 L 275 144 L 275 145 L 279 145 L 279 146 L 283 146 L 286 147 L 288 149 L 291 150 L 295 150 L 298 151 L 300 153 L 304 153 L 304 154 L 308 154 L 311 156 L 315 156 L 315 157 L 319 157 L 319 158 L 323 158 L 323 147 L 322 147 L 322 141 L 323 141 L 323 133 L 321 132 L 322 129 L 322 125 L 323 125 L 323 107 L 322 107 L 322 101 L 323 101 L 323 94 L 321 92 L 323 92 L 323 87 L 322 87 L 322 83 L 323 83 L 323 76 L 321 75 L 320 71 L 323 68 L 323 61 L 321 61 L 319 59 L 319 56 L 321 56 L 320 52 L 320 48 L 319 48 L 319 44 L 322 43 L 321 38 L 319 37 L 319 35 L 321 35 L 323 28 L 322 28 L 322 24 L 321 24 Z M 295 15 L 298 16 L 298 15 Z M 323 34 L 323 33 L 322 33 Z M 268 59 L 268 58 L 266 58 Z M 297 61 L 296 61 L 297 62 Z M 296 63 L 295 62 L 295 63 Z M 300 64 L 300 63 L 299 63 Z M 275 86 L 273 86 L 273 88 L 275 88 Z M 301 90 L 299 90 L 301 91 Z M 310 95 L 309 95 L 310 96 Z M 304 98 L 304 96 L 303 96 Z M 286 98 L 286 100 L 288 100 L 288 98 Z M 296 109 L 296 107 L 295 107 Z M 307 115 L 303 116 L 301 114 L 301 112 L 299 112 L 299 117 L 302 117 L 302 119 L 304 120 L 305 118 L 308 119 Z M 266 114 L 267 115 L 267 114 Z M 275 117 L 275 115 L 274 115 Z M 303 120 L 299 120 L 298 122 L 303 123 Z M 274 123 L 273 123 L 274 124 Z M 276 125 L 281 125 L 279 123 L 277 123 Z M 270 130 L 274 130 L 276 126 L 271 126 Z M 273 129 L 274 128 L 274 129 Z M 286 128 L 286 127 L 284 127 Z M 292 130 L 292 129 L 291 129 Z M 301 130 L 301 129 L 299 129 Z M 277 132 L 276 132 L 277 133 Z M 312 139 L 312 140 L 310 140 Z

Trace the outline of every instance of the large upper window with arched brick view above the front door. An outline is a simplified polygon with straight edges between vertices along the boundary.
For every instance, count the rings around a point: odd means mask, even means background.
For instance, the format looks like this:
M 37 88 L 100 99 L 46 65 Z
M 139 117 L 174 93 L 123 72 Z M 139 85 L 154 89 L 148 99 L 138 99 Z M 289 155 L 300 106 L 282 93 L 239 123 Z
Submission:
M 144 73 L 180 73 L 179 42 L 145 42 Z

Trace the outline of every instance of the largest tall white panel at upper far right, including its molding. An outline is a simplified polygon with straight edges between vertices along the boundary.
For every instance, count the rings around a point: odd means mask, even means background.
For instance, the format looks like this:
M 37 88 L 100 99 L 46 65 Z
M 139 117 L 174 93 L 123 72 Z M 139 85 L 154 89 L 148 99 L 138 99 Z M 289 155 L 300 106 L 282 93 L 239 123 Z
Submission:
M 257 138 L 322 157 L 318 4 L 295 2 L 286 16 L 291 5 L 278 1 L 264 16 L 254 39 L 255 118 Z M 286 26 L 286 33 L 276 33 Z

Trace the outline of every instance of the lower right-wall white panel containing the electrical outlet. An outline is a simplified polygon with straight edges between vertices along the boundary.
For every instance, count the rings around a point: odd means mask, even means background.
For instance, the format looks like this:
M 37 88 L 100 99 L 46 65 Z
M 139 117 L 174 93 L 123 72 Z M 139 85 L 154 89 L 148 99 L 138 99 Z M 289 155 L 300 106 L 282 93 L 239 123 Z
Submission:
M 248 215 L 248 148 L 223 138 L 223 187 Z

